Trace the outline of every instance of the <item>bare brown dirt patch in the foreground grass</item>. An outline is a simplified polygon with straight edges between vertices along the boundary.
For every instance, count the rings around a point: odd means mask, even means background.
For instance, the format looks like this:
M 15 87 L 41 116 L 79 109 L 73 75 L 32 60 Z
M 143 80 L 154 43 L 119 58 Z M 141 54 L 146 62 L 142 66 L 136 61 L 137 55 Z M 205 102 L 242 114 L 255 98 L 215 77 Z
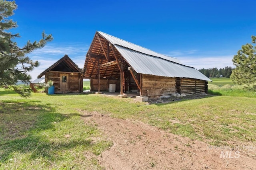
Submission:
M 96 123 L 114 143 L 98 156 L 99 164 L 107 170 L 256 169 L 255 148 L 250 148 L 253 154 L 248 156 L 240 148 L 210 146 L 140 121 L 96 112 L 83 113 L 82 119 L 86 124 Z

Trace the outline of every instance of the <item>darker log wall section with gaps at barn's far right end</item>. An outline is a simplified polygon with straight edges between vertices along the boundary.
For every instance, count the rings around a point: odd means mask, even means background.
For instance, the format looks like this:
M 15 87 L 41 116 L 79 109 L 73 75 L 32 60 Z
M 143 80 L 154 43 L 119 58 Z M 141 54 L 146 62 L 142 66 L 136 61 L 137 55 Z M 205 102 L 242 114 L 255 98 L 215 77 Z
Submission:
M 186 95 L 207 93 L 207 83 L 204 80 L 181 78 L 180 92 Z

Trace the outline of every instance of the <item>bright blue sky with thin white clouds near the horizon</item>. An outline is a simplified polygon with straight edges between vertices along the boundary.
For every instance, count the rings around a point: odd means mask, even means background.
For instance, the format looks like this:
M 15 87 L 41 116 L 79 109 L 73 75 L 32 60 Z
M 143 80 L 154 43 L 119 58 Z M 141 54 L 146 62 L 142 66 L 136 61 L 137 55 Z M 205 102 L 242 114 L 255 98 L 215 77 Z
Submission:
M 102 31 L 199 68 L 233 66 L 232 58 L 256 35 L 255 0 L 16 0 L 15 41 L 54 40 L 28 56 L 35 79 L 67 54 L 83 68 L 96 31 Z

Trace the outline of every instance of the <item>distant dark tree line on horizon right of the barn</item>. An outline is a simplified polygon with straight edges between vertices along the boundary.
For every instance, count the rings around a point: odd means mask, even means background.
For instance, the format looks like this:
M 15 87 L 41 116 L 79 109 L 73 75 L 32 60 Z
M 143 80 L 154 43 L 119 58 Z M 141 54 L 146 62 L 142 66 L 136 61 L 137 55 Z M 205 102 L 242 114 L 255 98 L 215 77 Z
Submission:
M 234 68 L 232 68 L 231 66 L 225 66 L 225 68 L 201 68 L 198 71 L 200 71 L 202 74 L 204 74 L 206 77 L 227 77 L 229 78 L 232 70 L 234 70 Z

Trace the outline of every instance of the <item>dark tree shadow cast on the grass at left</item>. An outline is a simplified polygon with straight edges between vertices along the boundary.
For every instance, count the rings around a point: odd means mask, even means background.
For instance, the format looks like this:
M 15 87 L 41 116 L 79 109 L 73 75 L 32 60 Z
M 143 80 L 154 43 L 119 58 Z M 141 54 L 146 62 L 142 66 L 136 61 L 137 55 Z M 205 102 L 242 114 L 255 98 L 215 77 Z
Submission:
M 70 118 L 56 113 L 56 109 L 49 104 L 38 104 L 38 101 L 8 101 L 0 104 L 0 164 L 14 158 L 17 152 L 29 154 L 30 159 L 43 157 L 54 161 L 62 159 L 57 154 L 58 150 L 80 145 L 94 146 L 90 140 L 83 138 L 56 143 L 48 139 L 47 135 L 40 135 L 41 131 L 47 129 L 54 131 L 55 123 Z

